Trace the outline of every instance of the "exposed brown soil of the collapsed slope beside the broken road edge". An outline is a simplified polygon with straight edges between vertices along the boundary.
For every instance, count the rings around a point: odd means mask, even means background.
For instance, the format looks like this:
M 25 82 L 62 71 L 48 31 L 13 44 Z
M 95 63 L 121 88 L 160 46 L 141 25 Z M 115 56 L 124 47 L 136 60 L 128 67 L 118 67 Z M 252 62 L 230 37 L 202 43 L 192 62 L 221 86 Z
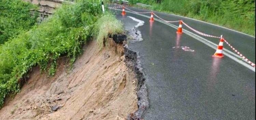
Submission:
M 0 119 L 124 120 L 138 109 L 137 79 L 124 59 L 122 45 L 111 42 L 99 51 L 92 41 L 71 70 L 66 58 L 54 77 L 35 67 L 21 92 L 5 100 Z

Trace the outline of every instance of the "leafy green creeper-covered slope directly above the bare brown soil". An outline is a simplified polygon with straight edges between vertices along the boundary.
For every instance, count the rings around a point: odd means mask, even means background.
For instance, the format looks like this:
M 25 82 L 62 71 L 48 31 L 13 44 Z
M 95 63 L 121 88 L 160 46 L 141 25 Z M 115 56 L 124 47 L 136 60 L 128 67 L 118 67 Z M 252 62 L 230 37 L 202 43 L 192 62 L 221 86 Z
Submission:
M 106 27 L 112 22 L 120 24 L 114 15 L 102 14 L 99 0 L 63 3 L 47 21 L 0 45 L 0 106 L 6 96 L 20 91 L 20 84 L 33 66 L 40 66 L 41 72 L 54 75 L 58 58 L 68 56 L 72 64 L 82 53 L 82 44 L 94 35 L 122 32 L 109 28 L 105 29 L 108 32 L 101 34 L 101 23 L 97 21 L 102 18 L 107 20 L 101 22 Z

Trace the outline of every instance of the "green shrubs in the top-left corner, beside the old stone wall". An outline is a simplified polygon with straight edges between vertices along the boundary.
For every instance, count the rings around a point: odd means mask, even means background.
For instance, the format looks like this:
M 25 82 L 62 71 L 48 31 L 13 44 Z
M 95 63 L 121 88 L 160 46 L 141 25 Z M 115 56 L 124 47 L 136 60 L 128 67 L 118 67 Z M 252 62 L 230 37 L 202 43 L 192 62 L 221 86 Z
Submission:
M 0 0 L 0 44 L 35 25 L 38 14 L 31 15 L 29 9 L 37 8 L 22 0 Z

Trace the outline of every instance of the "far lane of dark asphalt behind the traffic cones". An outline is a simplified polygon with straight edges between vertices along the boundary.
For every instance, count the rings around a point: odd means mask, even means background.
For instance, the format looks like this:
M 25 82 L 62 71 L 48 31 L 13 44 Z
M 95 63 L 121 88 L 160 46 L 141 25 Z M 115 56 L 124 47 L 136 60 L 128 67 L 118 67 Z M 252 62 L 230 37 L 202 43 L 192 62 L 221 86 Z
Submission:
M 134 8 L 134 7 L 128 7 L 128 8 L 132 9 L 133 11 L 136 11 L 136 12 L 149 12 L 146 9 L 140 9 L 140 8 Z M 128 11 L 128 10 L 126 10 L 126 11 Z M 165 20 L 168 20 L 168 21 L 183 20 L 189 26 L 191 26 L 203 33 L 207 33 L 207 34 L 214 35 L 214 36 L 223 35 L 224 38 L 231 45 L 233 45 L 233 47 L 237 48 L 237 50 L 239 52 L 244 54 L 244 56 L 246 56 L 248 59 L 250 59 L 252 62 L 255 63 L 255 37 L 251 37 L 248 35 L 244 35 L 242 33 L 234 32 L 234 31 L 222 28 L 222 27 L 211 25 L 209 23 L 196 21 L 196 20 L 192 20 L 189 18 L 181 17 L 181 16 L 176 16 L 176 15 L 161 13 L 161 12 L 154 12 L 154 13 L 156 13 L 159 17 L 161 17 Z M 150 14 L 144 14 L 144 15 L 150 16 Z M 173 23 L 173 24 L 176 26 L 179 25 L 179 23 Z M 183 25 L 183 28 L 186 30 L 189 30 L 190 32 L 193 32 L 190 29 L 188 29 L 185 25 Z M 214 42 L 215 44 L 219 43 L 219 40 L 216 38 L 209 38 L 209 37 L 203 37 L 203 38 L 206 38 L 206 39 Z M 224 44 L 224 48 L 232 51 L 232 49 L 227 44 Z

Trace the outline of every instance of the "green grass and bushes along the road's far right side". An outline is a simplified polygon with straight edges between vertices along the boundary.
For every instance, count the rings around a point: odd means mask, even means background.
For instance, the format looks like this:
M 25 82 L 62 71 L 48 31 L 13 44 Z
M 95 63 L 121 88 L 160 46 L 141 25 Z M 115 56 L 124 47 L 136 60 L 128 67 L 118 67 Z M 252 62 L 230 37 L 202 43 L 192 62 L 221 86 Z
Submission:
M 129 0 L 255 36 L 255 0 Z

